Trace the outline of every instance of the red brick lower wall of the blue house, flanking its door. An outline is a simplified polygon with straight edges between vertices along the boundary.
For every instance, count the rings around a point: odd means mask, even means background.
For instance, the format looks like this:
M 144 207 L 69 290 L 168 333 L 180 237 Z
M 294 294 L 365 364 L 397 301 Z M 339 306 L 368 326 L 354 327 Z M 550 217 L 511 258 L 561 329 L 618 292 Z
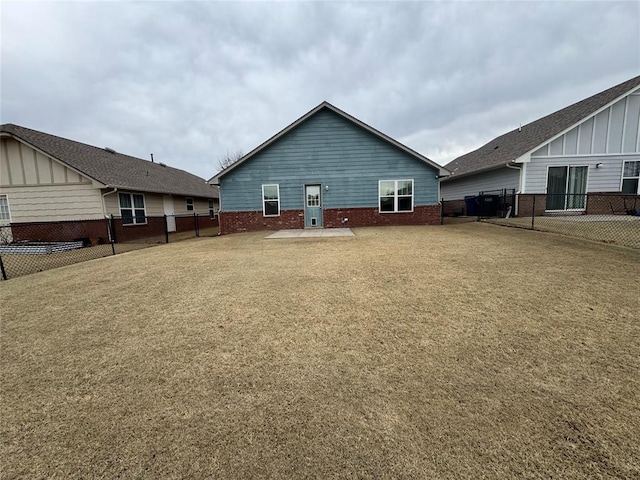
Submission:
M 325 228 L 372 227 L 391 225 L 440 225 L 440 205 L 415 207 L 411 213 L 378 213 L 373 208 L 329 208 L 323 210 Z M 343 219 L 348 221 L 343 223 Z M 262 212 L 220 212 L 220 233 L 304 228 L 303 210 L 283 210 L 279 217 L 264 217 Z

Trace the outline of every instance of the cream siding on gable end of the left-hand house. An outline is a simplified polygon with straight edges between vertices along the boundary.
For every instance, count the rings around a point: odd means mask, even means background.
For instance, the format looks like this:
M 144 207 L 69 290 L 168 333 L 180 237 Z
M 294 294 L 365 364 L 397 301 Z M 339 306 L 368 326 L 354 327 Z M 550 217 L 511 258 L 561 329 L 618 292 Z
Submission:
M 14 223 L 103 216 L 91 180 L 12 138 L 0 144 L 0 193 L 9 199 Z

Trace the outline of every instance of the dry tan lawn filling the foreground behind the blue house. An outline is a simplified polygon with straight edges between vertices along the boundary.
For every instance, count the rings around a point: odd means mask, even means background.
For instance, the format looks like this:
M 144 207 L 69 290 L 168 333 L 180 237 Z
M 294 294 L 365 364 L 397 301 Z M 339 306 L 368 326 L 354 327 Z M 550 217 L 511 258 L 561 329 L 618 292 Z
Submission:
M 2 478 L 640 476 L 640 251 L 355 233 L 2 282 Z

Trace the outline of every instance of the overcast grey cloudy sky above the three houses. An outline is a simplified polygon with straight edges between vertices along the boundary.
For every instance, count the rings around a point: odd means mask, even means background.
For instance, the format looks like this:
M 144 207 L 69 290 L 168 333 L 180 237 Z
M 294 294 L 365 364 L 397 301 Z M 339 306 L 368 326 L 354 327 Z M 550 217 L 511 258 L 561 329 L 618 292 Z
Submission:
M 640 2 L 2 1 L 0 120 L 211 177 L 327 100 L 445 164 L 640 74 Z

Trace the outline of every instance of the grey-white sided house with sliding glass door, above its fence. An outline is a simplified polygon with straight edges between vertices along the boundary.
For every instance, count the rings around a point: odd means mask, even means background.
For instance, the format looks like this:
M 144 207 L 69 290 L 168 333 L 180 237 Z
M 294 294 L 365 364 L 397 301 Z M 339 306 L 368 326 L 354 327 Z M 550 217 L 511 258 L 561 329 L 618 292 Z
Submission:
M 445 165 L 444 200 L 514 189 L 545 211 L 585 211 L 591 194 L 640 194 L 640 76 L 491 140 Z M 635 201 L 635 200 L 634 200 Z

